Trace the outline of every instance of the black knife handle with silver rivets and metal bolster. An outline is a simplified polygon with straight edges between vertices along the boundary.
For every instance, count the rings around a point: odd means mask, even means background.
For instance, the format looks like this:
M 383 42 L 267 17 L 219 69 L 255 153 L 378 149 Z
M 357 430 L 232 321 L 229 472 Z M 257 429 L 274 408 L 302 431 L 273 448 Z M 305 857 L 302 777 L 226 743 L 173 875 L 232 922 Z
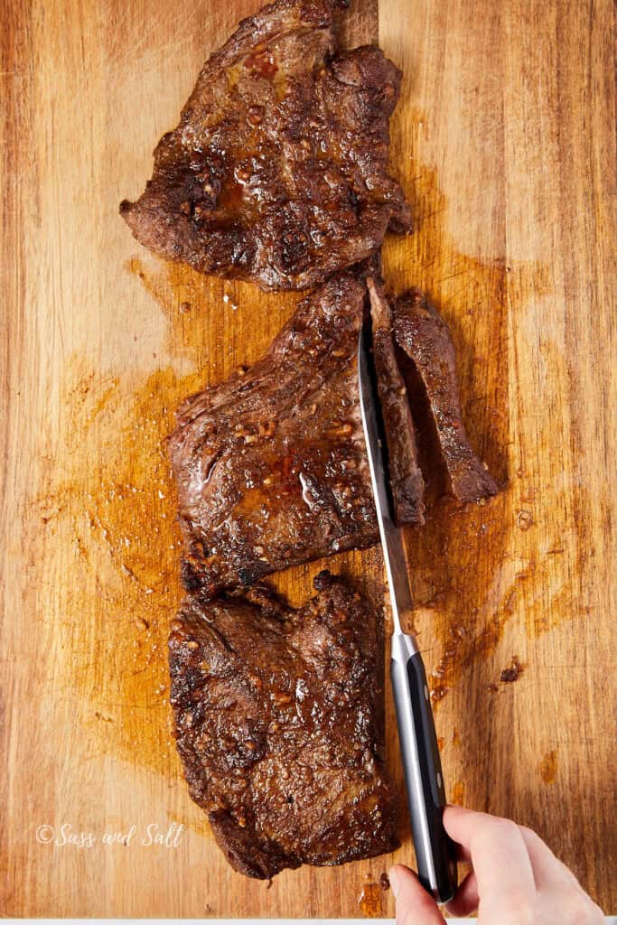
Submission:
M 456 892 L 456 850 L 443 827 L 446 791 L 435 734 L 435 722 L 419 652 L 410 653 L 392 638 L 390 675 L 396 707 L 401 758 L 412 821 L 418 879 L 439 903 Z

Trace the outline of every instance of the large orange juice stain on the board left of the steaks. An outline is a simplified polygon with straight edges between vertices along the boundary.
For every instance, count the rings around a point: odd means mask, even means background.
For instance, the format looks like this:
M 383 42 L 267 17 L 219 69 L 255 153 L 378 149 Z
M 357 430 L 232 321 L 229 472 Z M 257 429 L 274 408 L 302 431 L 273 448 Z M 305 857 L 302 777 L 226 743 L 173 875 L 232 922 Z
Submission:
M 56 581 L 58 682 L 80 703 L 93 751 L 170 773 L 167 626 L 179 605 L 179 529 L 165 438 L 198 376 L 172 369 L 130 388 L 68 365 L 62 462 L 27 502 L 31 529 L 72 549 L 69 580 Z M 45 567 L 42 561 L 41 567 Z M 82 649 L 80 626 L 93 646 Z M 84 706 L 85 705 L 85 706 Z

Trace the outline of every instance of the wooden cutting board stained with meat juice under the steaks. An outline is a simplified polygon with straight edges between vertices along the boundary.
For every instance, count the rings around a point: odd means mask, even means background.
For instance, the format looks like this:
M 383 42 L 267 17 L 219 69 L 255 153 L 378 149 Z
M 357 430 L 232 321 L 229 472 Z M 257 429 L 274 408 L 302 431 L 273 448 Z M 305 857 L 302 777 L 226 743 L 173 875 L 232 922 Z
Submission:
M 179 536 L 162 441 L 179 399 L 253 363 L 297 300 L 163 264 L 117 205 L 256 6 L 2 5 L 4 915 L 392 914 L 392 857 L 271 886 L 233 872 L 169 736 Z M 450 322 L 466 422 L 505 486 L 484 506 L 441 501 L 407 534 L 450 797 L 537 829 L 606 911 L 613 30 L 610 0 L 381 0 L 378 15 L 354 0 L 347 27 L 405 75 L 392 163 L 416 230 L 389 239 L 386 277 Z M 323 565 L 276 584 L 300 601 Z M 381 593 L 378 550 L 327 565 Z M 501 682 L 512 659 L 523 671 Z M 401 787 L 390 703 L 387 722 Z

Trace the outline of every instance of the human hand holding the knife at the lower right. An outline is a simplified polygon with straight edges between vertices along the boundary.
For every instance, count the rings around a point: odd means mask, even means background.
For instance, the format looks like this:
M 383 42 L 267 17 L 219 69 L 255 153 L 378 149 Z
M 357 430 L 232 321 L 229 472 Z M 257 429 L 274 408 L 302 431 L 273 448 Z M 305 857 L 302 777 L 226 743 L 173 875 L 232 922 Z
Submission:
M 509 819 L 446 807 L 446 832 L 473 871 L 446 906 L 454 916 L 478 909 L 478 925 L 600 925 L 601 909 L 571 870 L 531 829 Z M 397 925 L 444 925 L 435 900 L 415 874 L 397 864 L 389 872 Z

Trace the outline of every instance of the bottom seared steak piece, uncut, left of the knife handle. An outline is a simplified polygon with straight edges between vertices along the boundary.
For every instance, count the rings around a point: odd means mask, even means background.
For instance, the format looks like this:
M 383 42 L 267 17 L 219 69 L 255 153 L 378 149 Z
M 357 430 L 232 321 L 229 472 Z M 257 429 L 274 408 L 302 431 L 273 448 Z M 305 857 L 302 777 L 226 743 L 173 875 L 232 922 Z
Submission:
M 190 597 L 169 636 L 171 704 L 192 799 L 236 870 L 393 850 L 380 614 L 341 579 L 293 610 L 265 588 Z

